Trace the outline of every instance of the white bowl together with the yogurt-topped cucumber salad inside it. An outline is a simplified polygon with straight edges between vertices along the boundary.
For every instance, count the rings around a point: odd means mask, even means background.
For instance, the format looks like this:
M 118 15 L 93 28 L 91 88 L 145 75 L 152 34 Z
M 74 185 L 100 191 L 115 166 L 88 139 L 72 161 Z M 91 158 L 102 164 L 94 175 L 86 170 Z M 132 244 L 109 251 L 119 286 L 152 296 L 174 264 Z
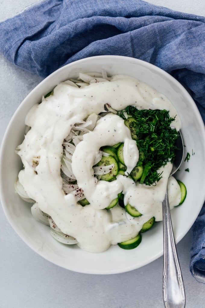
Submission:
M 169 177 L 179 130 L 184 159 Z M 198 216 L 201 140 L 194 101 L 160 68 L 122 56 L 70 63 L 29 93 L 7 127 L 4 212 L 31 249 L 65 269 L 136 269 L 163 254 L 167 187 L 176 243 Z

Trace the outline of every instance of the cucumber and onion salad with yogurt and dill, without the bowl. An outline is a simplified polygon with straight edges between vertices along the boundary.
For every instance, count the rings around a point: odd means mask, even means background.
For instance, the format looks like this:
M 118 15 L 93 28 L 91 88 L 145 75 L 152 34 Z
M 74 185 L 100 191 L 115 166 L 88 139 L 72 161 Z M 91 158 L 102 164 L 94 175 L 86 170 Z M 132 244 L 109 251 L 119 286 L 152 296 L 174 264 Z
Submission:
M 185 199 L 169 177 L 181 120 L 146 83 L 80 72 L 43 96 L 25 123 L 15 189 L 63 244 L 133 249 L 162 220 L 167 187 L 171 208 Z

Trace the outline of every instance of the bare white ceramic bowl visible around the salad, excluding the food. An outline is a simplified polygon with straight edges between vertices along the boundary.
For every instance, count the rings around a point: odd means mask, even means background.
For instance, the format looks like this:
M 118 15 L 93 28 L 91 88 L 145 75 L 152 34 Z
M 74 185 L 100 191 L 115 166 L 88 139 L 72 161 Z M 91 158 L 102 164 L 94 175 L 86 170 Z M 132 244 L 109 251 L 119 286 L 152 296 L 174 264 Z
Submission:
M 147 62 L 122 56 L 97 56 L 68 64 L 44 79 L 23 100 L 14 113 L 6 130 L 0 154 L 0 192 L 2 206 L 11 226 L 35 252 L 45 259 L 64 267 L 88 274 L 116 274 L 134 270 L 157 259 L 163 254 L 163 229 L 159 222 L 143 234 L 139 247 L 133 250 L 112 246 L 103 253 L 89 253 L 76 245 L 62 245 L 49 234 L 46 225 L 36 221 L 28 203 L 14 193 L 14 181 L 22 163 L 14 149 L 24 138 L 24 120 L 27 112 L 42 95 L 51 91 L 58 83 L 77 77 L 79 72 L 99 71 L 104 68 L 108 75 L 126 74 L 135 77 L 163 93 L 178 110 L 182 120 L 182 135 L 185 156 L 178 178 L 187 187 L 187 198 L 183 205 L 171 211 L 175 240 L 179 242 L 194 223 L 205 199 L 205 129 L 199 111 L 187 91 L 168 73 Z M 189 172 L 185 169 L 189 168 Z

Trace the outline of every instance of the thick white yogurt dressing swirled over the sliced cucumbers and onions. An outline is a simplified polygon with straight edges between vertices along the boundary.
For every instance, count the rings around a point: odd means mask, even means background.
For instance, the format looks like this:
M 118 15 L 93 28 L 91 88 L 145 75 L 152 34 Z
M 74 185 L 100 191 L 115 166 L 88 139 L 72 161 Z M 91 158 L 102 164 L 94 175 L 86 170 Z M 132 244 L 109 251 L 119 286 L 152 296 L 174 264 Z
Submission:
M 92 167 L 100 147 L 124 142 L 123 155 L 128 172 L 139 159 L 136 142 L 124 120 L 112 113 L 98 120 L 94 130 L 83 135 L 72 157 L 73 174 L 90 204 L 82 207 L 73 193 L 65 195 L 60 175 L 62 143 L 74 124 L 92 113 L 103 112 L 106 103 L 116 110 L 128 105 L 138 109 L 167 109 L 170 116 L 175 117 L 173 127 L 181 128 L 177 111 L 164 95 L 134 78 L 115 75 L 110 81 L 81 88 L 58 84 L 53 95 L 34 105 L 27 114 L 25 123 L 31 129 L 18 151 L 24 165 L 19 172 L 19 182 L 28 196 L 41 211 L 52 217 L 63 233 L 75 237 L 77 245 L 89 252 L 103 252 L 110 245 L 135 237 L 144 222 L 153 216 L 156 221 L 162 220 L 167 183 L 170 208 L 178 205 L 181 199 L 177 181 L 169 178 L 170 162 L 160 168 L 163 178 L 156 186 L 136 184 L 122 175 L 112 182 L 96 181 Z M 36 157 L 39 163 L 34 170 Z M 119 205 L 105 209 L 121 191 L 125 205 L 130 203 L 142 216 L 131 217 Z

